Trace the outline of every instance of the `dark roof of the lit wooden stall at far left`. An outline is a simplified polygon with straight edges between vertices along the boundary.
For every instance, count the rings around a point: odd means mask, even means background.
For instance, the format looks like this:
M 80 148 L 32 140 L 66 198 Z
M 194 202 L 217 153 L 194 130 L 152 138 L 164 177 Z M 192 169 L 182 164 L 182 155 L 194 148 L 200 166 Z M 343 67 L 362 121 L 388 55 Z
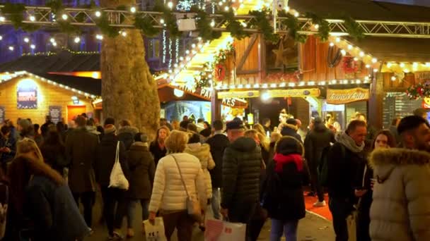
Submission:
M 0 64 L 0 72 L 25 70 L 40 74 L 48 72 L 99 71 L 100 54 L 73 54 L 61 51 L 52 55 L 25 55 Z

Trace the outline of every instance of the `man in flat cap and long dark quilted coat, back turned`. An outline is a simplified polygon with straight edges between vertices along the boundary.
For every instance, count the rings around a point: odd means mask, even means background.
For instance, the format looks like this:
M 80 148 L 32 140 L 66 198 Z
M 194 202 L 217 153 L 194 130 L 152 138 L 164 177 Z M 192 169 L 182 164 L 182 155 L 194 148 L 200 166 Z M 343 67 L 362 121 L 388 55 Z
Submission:
M 260 196 L 262 156 L 255 140 L 244 134 L 242 121 L 227 123 L 231 145 L 223 156 L 221 214 L 233 223 L 246 223 L 246 240 L 250 240 L 250 221 Z

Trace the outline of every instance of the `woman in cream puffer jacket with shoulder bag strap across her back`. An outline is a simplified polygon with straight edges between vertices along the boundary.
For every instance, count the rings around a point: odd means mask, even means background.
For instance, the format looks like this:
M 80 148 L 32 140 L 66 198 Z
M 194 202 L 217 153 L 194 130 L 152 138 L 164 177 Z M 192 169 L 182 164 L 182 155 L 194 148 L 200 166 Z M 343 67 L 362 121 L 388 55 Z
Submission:
M 154 221 L 159 210 L 163 216 L 165 236 L 170 240 L 175 228 L 179 241 L 190 241 L 194 219 L 187 214 L 187 192 L 199 197 L 200 206 L 207 203 L 207 187 L 199 159 L 184 153 L 188 142 L 186 132 L 174 130 L 165 140 L 168 155 L 158 162 L 153 182 L 149 221 Z M 178 170 L 178 166 L 180 170 Z M 187 191 L 181 180 L 184 178 Z

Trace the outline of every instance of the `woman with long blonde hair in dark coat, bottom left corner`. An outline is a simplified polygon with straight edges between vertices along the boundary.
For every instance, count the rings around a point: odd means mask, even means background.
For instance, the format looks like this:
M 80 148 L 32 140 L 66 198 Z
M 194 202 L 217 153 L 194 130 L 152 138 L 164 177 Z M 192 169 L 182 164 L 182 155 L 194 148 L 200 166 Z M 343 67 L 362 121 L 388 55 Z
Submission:
M 8 238 L 16 237 L 30 219 L 32 240 L 76 240 L 90 233 L 79 213 L 69 187 L 57 171 L 43 162 L 34 140 L 17 143 L 9 166 L 11 206 Z M 8 240 L 8 239 L 7 239 Z

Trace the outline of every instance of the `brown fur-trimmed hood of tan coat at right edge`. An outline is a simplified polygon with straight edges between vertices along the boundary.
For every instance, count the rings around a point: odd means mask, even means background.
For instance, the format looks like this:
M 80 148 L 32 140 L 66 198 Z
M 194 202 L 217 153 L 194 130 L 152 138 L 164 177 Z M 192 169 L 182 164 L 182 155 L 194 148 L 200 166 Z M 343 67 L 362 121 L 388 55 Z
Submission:
M 377 149 L 371 153 L 369 160 L 373 175 L 383 183 L 397 166 L 429 164 L 430 154 L 404 148 Z

